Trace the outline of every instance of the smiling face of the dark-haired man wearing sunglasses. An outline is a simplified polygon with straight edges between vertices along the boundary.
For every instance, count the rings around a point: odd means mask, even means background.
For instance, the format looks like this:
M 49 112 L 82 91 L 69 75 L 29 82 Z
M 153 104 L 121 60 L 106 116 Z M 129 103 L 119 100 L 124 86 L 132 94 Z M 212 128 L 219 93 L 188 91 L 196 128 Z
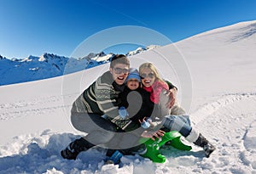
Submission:
M 113 76 L 113 81 L 118 85 L 123 85 L 129 74 L 129 66 L 125 64 L 116 64 L 113 68 L 109 68 L 109 71 Z

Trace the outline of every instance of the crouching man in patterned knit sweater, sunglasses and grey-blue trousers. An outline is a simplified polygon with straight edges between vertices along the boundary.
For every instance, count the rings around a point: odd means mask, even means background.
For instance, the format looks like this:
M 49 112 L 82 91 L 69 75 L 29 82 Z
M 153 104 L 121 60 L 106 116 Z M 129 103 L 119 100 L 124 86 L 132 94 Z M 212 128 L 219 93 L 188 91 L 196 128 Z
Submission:
M 108 143 L 118 126 L 106 121 L 102 115 L 116 119 L 119 117 L 118 96 L 125 88 L 130 61 L 123 54 L 115 55 L 110 68 L 77 98 L 71 109 L 71 121 L 79 131 L 88 133 L 61 150 L 65 159 L 75 160 L 79 152 L 98 144 Z

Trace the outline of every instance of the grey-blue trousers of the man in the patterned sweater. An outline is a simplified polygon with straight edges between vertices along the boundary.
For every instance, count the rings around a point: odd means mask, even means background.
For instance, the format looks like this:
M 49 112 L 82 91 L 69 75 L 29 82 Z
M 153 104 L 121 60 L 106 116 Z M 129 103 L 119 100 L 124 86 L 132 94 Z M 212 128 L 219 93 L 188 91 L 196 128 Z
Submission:
M 108 149 L 130 149 L 131 151 L 136 151 L 133 149 L 140 147 L 142 128 L 134 132 L 125 132 L 101 115 L 87 113 L 73 113 L 71 121 L 77 130 L 88 133 L 83 137 L 84 140 L 79 141 L 86 149 L 100 144 L 104 144 Z

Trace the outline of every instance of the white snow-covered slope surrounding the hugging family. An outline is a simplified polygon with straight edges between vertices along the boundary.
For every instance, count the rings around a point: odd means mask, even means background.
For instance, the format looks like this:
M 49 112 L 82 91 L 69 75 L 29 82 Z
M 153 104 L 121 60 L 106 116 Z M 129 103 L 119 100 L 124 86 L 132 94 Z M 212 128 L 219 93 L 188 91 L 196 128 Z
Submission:
M 124 156 L 122 167 L 104 166 L 100 148 L 78 160 L 62 159 L 61 149 L 81 134 L 69 121 L 71 104 L 108 70 L 100 65 L 0 87 L 0 173 L 256 173 L 255 24 L 230 25 L 131 56 L 131 66 L 151 61 L 177 85 L 195 128 L 217 148 L 210 158 L 192 145 L 189 152 L 163 147 L 164 164 Z

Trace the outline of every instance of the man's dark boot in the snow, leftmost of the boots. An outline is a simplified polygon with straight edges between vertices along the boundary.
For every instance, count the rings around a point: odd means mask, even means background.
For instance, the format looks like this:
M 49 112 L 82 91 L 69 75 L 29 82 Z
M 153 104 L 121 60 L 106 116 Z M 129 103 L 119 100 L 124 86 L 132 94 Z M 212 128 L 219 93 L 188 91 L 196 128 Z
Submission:
M 61 150 L 62 158 L 76 160 L 80 152 L 87 150 L 85 148 L 85 143 L 87 143 L 87 141 L 84 140 L 84 138 L 76 139 L 72 143 L 69 143 L 66 149 Z

